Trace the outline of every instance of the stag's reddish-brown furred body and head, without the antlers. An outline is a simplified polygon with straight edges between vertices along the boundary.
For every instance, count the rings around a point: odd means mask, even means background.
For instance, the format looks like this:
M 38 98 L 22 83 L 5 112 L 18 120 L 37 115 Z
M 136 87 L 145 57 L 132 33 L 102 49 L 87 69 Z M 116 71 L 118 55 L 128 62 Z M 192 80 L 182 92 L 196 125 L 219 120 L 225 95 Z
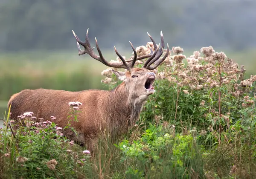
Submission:
M 81 144 L 92 148 L 97 135 L 107 130 L 113 138 L 120 136 L 128 130 L 139 118 L 143 103 L 153 92 L 148 92 L 144 85 L 149 76 L 154 75 L 147 69 L 131 69 L 130 72 L 113 72 L 117 76 L 125 75 L 126 79 L 116 89 L 84 90 L 69 92 L 63 90 L 23 90 L 9 100 L 12 119 L 18 115 L 32 111 L 37 118 L 49 120 L 51 115 L 56 117 L 58 127 L 65 127 L 69 121 L 70 112 L 68 103 L 79 101 L 81 113 L 78 122 L 72 121 L 71 126 L 76 129 L 79 136 L 71 130 L 65 130 L 64 135 Z M 137 75 L 136 78 L 132 78 Z

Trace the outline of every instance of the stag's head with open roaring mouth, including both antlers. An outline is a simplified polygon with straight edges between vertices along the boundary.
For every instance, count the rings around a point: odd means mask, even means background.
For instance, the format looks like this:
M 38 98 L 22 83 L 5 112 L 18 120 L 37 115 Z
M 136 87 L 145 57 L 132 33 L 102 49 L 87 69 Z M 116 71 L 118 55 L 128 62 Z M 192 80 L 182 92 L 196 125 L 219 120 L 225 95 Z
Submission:
M 154 52 L 152 49 L 150 49 L 151 53 L 148 55 L 137 57 L 137 52 L 134 49 L 134 46 L 132 45 L 132 43 L 130 42 L 131 48 L 134 52 L 134 57 L 132 59 L 128 59 L 125 61 L 125 59 L 122 57 L 122 55 L 119 54 L 119 52 L 117 52 L 116 47 L 114 46 L 116 55 L 122 61 L 121 63 L 111 63 L 106 61 L 102 55 L 101 50 L 99 49 L 99 45 L 96 38 L 95 38 L 96 48 L 97 48 L 97 51 L 99 52 L 99 56 L 93 52 L 94 48 L 91 47 L 89 38 L 88 38 L 88 29 L 87 29 L 86 38 L 84 42 L 82 42 L 78 38 L 78 36 L 75 34 L 74 31 L 72 32 L 77 41 L 79 55 L 83 55 L 87 53 L 92 58 L 102 62 L 102 64 L 105 64 L 106 66 L 113 67 L 113 68 L 122 68 L 127 70 L 126 72 L 121 72 L 121 71 L 116 71 L 112 69 L 113 73 L 120 80 L 123 81 L 121 85 L 125 85 L 125 88 L 129 96 L 128 101 L 131 100 L 136 102 L 143 102 L 148 98 L 149 95 L 154 93 L 154 87 L 152 86 L 152 84 L 154 83 L 154 80 L 156 77 L 154 72 L 152 72 L 151 70 L 157 68 L 157 66 L 159 66 L 169 55 L 169 45 L 167 43 L 167 52 L 163 58 L 160 58 L 161 55 L 163 54 L 163 49 L 165 46 L 162 31 L 160 33 L 161 46 L 160 44 L 158 44 L 157 46 L 154 39 L 151 37 L 151 35 L 148 34 L 154 46 Z M 81 50 L 80 45 L 84 47 L 84 50 Z M 145 58 L 148 58 L 148 59 L 147 61 L 145 61 L 145 64 L 143 65 L 142 68 L 134 68 L 134 64 L 137 60 L 142 60 Z

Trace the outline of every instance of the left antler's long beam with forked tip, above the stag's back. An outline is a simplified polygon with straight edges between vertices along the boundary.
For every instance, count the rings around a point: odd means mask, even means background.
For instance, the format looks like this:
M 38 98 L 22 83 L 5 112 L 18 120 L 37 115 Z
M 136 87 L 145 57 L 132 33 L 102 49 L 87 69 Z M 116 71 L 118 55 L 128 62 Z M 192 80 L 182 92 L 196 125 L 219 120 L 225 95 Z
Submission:
M 93 48 L 91 48 L 90 46 L 90 42 L 89 42 L 89 35 L 88 35 L 88 31 L 89 29 L 87 29 L 87 32 L 86 32 L 86 36 L 85 36 L 85 42 L 82 42 L 78 36 L 76 35 L 76 33 L 72 30 L 73 32 L 73 35 L 75 36 L 76 38 L 76 41 L 77 41 L 77 48 L 78 48 L 78 51 L 79 51 L 79 55 L 83 55 L 85 53 L 87 53 L 88 55 L 90 55 L 92 58 L 94 58 L 95 60 L 97 61 L 100 61 L 102 62 L 102 64 L 105 64 L 106 66 L 109 66 L 109 67 L 113 67 L 113 68 L 124 68 L 124 69 L 128 69 L 130 70 L 131 68 L 126 64 L 125 60 L 120 58 L 122 60 L 122 64 L 120 63 L 109 63 L 108 61 L 105 60 L 105 58 L 103 57 L 102 55 L 102 52 L 99 48 L 99 45 L 98 45 L 98 41 L 97 39 L 95 38 L 95 41 L 96 41 L 96 48 L 99 52 L 99 56 L 96 55 L 94 52 L 93 52 Z M 82 45 L 84 47 L 84 50 L 81 50 L 80 48 L 80 45 Z M 121 56 L 121 55 L 120 55 Z

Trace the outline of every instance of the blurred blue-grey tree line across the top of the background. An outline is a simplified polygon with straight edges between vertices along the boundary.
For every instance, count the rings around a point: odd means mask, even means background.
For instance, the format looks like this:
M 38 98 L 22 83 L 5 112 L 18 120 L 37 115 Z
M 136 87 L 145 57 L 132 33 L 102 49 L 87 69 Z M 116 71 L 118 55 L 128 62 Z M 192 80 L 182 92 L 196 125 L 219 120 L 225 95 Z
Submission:
M 0 50 L 75 49 L 87 28 L 103 49 L 145 45 L 149 32 L 170 46 L 256 45 L 254 0 L 0 0 Z

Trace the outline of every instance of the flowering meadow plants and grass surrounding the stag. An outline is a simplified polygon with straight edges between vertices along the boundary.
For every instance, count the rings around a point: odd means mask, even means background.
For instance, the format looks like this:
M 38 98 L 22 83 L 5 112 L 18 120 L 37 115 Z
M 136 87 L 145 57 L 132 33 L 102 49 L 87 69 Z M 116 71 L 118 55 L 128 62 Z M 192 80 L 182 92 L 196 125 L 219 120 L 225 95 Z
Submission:
M 145 55 L 148 44 L 136 50 Z M 7 113 L 0 178 L 255 178 L 256 75 L 211 46 L 182 54 L 173 48 L 155 70 L 156 92 L 129 133 L 115 143 L 102 136 L 94 153 L 66 139 L 54 116 L 43 122 L 24 111 L 14 131 Z M 122 82 L 111 69 L 102 75 L 105 89 Z M 78 112 L 79 105 L 71 105 L 67 117 L 79 120 Z

